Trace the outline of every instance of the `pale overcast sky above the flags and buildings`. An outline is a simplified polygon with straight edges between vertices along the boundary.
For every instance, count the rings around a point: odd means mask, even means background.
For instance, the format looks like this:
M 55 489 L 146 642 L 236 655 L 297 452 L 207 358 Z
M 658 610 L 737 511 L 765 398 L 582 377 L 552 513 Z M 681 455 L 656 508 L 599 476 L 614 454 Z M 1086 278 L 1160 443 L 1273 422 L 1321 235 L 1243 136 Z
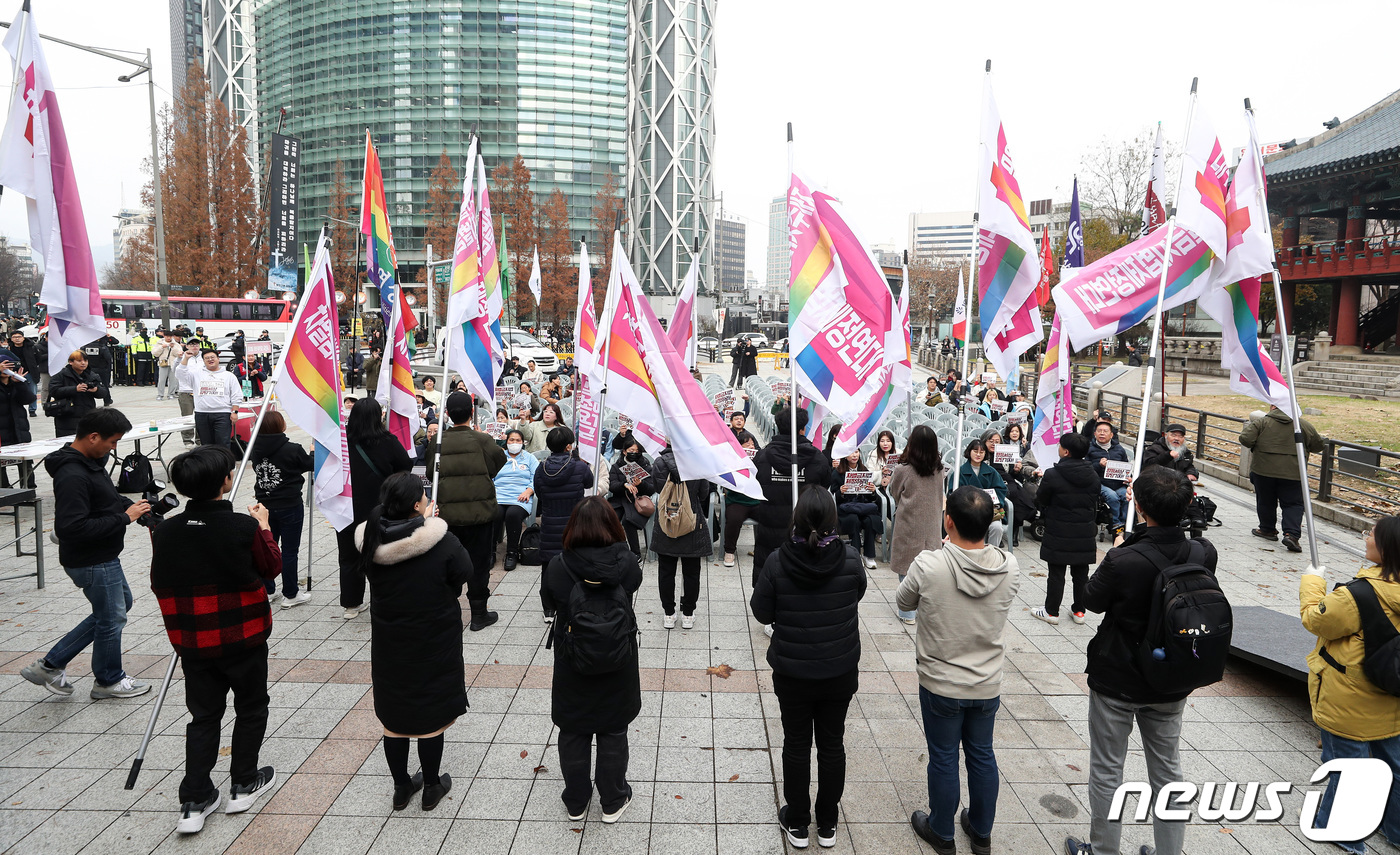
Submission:
M 1400 88 L 1394 3 L 1128 4 L 1001 0 L 717 0 L 715 189 L 749 225 L 762 280 L 769 200 L 797 160 L 847 206 L 871 243 L 903 248 L 911 211 L 973 204 L 981 69 L 993 84 L 1028 200 L 1068 197 L 1081 155 L 1163 123 L 1180 141 L 1191 77 L 1226 147 L 1242 146 L 1242 99 L 1263 141 L 1308 139 Z M 8 20 L 18 10 L 0 7 Z M 169 99 L 167 0 L 32 0 L 41 32 L 154 52 Z M 150 154 L 144 77 L 46 45 L 98 264 L 112 218 L 137 206 Z M 8 63 L 0 78 L 8 81 Z M 7 90 L 8 91 L 8 87 Z M 24 203 L 0 197 L 0 232 L 28 239 Z

